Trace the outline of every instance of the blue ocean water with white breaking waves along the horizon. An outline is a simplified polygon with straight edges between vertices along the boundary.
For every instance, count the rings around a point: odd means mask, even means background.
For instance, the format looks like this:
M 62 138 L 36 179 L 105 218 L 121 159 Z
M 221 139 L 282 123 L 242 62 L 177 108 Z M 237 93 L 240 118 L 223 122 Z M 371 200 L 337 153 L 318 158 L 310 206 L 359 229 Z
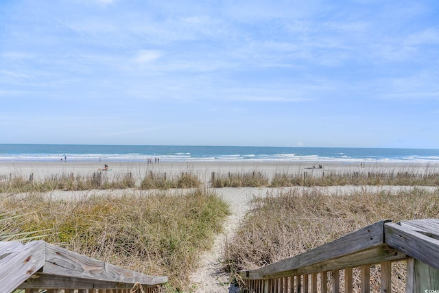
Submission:
M 0 161 L 339 161 L 439 163 L 439 150 L 187 145 L 0 144 Z

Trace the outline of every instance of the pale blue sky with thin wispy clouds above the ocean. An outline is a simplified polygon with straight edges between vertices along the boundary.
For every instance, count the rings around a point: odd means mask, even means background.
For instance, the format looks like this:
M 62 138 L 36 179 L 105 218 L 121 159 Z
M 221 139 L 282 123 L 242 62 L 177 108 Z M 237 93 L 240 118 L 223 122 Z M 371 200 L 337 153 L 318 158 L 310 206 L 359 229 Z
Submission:
M 439 1 L 0 1 L 0 143 L 439 148 Z

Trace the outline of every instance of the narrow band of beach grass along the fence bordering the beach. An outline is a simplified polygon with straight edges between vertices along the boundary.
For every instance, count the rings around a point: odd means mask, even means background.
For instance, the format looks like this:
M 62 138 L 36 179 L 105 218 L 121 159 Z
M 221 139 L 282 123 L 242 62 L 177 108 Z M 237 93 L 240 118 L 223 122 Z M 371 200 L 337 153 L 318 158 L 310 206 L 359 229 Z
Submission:
M 47 192 L 53 190 L 90 189 L 171 189 L 196 188 L 203 184 L 201 176 L 194 172 L 181 172 L 178 175 L 166 172 L 147 172 L 137 180 L 132 172 L 105 172 L 93 174 L 56 174 L 43 179 L 21 175 L 0 178 L 0 193 Z M 260 170 L 241 172 L 213 172 L 211 187 L 294 187 L 294 186 L 344 186 L 344 185 L 400 185 L 400 186 L 439 186 L 439 173 L 428 169 L 410 167 L 402 170 L 353 170 L 331 171 L 324 169 L 304 172 L 277 172 L 270 174 Z

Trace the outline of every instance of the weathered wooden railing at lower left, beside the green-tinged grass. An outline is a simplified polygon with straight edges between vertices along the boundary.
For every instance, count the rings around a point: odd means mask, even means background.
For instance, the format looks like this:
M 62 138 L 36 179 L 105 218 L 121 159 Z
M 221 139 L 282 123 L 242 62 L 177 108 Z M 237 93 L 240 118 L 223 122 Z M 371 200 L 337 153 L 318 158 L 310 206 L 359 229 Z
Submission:
M 142 286 L 152 293 L 165 282 L 167 277 L 126 270 L 43 241 L 0 242 L 0 292 L 128 293 Z

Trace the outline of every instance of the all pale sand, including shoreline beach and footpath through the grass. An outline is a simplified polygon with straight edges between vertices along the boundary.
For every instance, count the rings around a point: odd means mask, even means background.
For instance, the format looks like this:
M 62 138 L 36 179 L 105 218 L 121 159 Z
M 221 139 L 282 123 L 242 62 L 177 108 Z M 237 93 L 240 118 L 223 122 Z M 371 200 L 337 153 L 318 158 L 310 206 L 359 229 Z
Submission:
M 108 165 L 108 171 L 102 171 L 104 165 Z M 322 168 L 318 166 L 322 165 Z M 316 167 L 316 168 L 313 168 Z M 439 172 L 439 163 L 340 163 L 340 162 L 290 162 L 290 161 L 202 161 L 202 162 L 123 162 L 123 161 L 96 161 L 96 162 L 51 162 L 51 161 L 2 161 L 0 162 L 0 180 L 8 177 L 21 176 L 34 180 L 43 180 L 49 176 L 71 175 L 73 176 L 92 176 L 100 173 L 103 176 L 119 176 L 132 174 L 139 182 L 147 174 L 168 174 L 168 176 L 178 176 L 185 172 L 196 174 L 200 180 L 204 181 L 206 187 L 210 187 L 212 174 L 248 173 L 261 172 L 268 178 L 273 178 L 276 174 L 307 174 L 307 176 L 324 176 L 334 172 L 337 174 L 380 172 L 397 173 L 409 172 L 411 174 L 429 174 Z M 326 194 L 332 194 L 335 190 L 342 190 L 346 193 L 359 190 L 361 186 L 330 186 L 330 187 L 288 187 L 288 188 L 321 188 Z M 414 187 L 367 187 L 370 190 L 389 189 L 398 192 L 401 189 L 412 189 Z M 437 187 L 426 187 L 434 189 Z M 285 188 L 284 188 L 285 189 Z M 239 187 L 239 188 L 216 188 L 215 192 L 223 200 L 230 204 L 231 214 L 224 222 L 223 233 L 217 235 L 211 250 L 200 255 L 199 270 L 193 272 L 191 280 L 195 284 L 195 292 L 238 292 L 238 288 L 228 284 L 229 276 L 222 272 L 222 248 L 226 239 L 231 239 L 239 223 L 250 209 L 249 200 L 258 196 L 265 196 L 269 191 L 281 190 L 270 187 Z M 169 192 L 174 191 L 170 189 Z M 51 198 L 70 198 L 78 199 L 84 196 L 111 194 L 147 194 L 150 191 L 139 190 L 137 188 L 118 189 L 118 190 L 86 190 L 86 191 L 51 191 L 48 194 Z M 153 191 L 152 191 L 153 192 Z M 9 195 L 8 195 L 9 196 Z M 16 195 L 19 196 L 19 195 Z

